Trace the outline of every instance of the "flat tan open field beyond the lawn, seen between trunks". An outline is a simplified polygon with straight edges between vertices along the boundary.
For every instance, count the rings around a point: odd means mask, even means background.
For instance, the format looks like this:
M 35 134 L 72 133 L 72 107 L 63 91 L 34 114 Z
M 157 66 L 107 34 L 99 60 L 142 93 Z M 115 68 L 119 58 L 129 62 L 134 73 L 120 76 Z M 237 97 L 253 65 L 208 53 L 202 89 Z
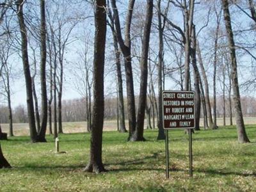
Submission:
M 145 120 L 145 128 L 147 127 L 147 121 Z M 223 125 L 223 118 L 217 118 L 218 125 Z M 126 127 L 128 127 L 128 121 L 125 121 Z M 230 124 L 229 118 L 226 118 L 226 124 Z M 236 124 L 235 118 L 233 118 L 233 124 Z M 244 117 L 244 124 L 252 125 L 256 124 L 256 117 Z M 203 119 L 200 120 L 200 126 L 203 126 Z M 3 132 L 8 132 L 9 124 L 1 124 Z M 86 122 L 63 122 L 63 132 L 86 132 Z M 152 124 L 153 126 L 153 124 Z M 157 121 L 156 121 L 157 126 Z M 53 125 L 52 125 L 53 127 Z M 52 128 L 53 129 L 53 128 Z M 47 128 L 48 131 L 48 128 Z M 105 120 L 104 131 L 116 131 L 116 120 Z M 13 132 L 15 136 L 29 135 L 28 124 L 13 124 Z

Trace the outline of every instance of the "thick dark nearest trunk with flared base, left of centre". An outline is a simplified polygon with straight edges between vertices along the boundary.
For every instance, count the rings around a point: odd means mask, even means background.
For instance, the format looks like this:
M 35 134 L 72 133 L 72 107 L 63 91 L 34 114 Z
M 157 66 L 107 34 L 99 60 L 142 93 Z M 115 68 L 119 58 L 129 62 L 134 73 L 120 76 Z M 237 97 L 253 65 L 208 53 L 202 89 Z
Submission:
M 106 43 L 106 0 L 95 6 L 95 42 L 93 60 L 93 112 L 90 160 L 86 172 L 104 172 L 102 163 L 102 132 L 104 119 L 104 60 Z

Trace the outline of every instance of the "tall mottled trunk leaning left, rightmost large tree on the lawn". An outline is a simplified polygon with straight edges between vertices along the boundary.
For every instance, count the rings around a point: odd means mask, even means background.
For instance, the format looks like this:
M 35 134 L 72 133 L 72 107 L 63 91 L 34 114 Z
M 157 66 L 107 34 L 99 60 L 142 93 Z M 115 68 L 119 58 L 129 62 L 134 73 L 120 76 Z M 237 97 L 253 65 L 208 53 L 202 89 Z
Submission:
M 237 127 L 237 139 L 240 143 L 248 143 L 250 140 L 245 131 L 243 113 L 241 108 L 241 100 L 239 93 L 239 83 L 237 76 L 237 61 L 236 61 L 236 45 L 234 42 L 233 31 L 231 26 L 230 13 L 228 9 L 228 0 L 222 0 L 223 12 L 225 27 L 228 37 L 228 46 L 230 49 L 230 58 L 231 58 L 231 74 L 232 74 L 232 88 L 233 88 L 233 100 L 234 108 L 236 111 L 236 127 Z

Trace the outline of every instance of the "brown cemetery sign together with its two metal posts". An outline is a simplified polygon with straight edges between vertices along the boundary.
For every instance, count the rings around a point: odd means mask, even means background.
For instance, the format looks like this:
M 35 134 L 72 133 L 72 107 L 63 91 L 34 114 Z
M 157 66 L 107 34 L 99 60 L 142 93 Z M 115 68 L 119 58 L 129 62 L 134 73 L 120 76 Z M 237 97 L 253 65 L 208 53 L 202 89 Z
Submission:
M 193 177 L 192 131 L 195 128 L 195 92 L 163 91 L 163 125 L 166 138 L 166 179 L 169 178 L 168 130 L 188 129 L 189 131 L 189 176 Z

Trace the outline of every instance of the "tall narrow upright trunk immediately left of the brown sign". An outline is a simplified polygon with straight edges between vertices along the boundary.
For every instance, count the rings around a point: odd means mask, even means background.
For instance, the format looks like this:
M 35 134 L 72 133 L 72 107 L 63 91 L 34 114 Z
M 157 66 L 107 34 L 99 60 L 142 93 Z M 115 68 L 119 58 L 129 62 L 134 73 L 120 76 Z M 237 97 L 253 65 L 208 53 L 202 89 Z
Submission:
M 157 140 L 164 140 L 165 134 L 163 129 L 163 101 L 162 101 L 162 92 L 163 92 L 163 31 L 164 24 L 162 26 L 161 20 L 161 0 L 157 1 L 157 18 L 158 18 L 158 34 L 159 34 L 159 51 L 158 51 L 158 66 L 157 66 L 157 84 L 158 84 L 158 118 L 157 118 L 157 127 L 158 135 Z

